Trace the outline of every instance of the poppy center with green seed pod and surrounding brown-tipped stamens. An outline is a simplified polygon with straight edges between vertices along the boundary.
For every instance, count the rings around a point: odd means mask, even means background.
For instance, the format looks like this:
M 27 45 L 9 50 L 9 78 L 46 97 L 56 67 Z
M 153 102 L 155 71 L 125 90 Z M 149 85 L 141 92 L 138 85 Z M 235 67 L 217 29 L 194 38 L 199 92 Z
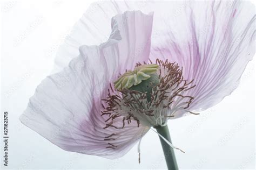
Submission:
M 110 84 L 109 94 L 102 103 L 102 115 L 108 115 L 105 128 L 123 129 L 135 121 L 145 126 L 163 126 L 170 117 L 186 112 L 194 97 L 185 95 L 194 88 L 192 81 L 184 80 L 177 63 L 161 61 L 129 70 Z M 116 126 L 117 121 L 122 126 Z

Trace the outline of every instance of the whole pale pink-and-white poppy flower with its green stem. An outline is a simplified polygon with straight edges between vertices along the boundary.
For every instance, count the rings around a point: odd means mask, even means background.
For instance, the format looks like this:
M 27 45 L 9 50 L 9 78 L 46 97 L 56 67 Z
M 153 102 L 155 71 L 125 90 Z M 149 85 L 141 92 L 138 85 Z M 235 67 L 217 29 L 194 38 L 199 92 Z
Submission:
M 21 121 L 66 151 L 109 159 L 156 128 L 177 168 L 167 121 L 232 93 L 254 55 L 254 13 L 237 1 L 93 4 Z

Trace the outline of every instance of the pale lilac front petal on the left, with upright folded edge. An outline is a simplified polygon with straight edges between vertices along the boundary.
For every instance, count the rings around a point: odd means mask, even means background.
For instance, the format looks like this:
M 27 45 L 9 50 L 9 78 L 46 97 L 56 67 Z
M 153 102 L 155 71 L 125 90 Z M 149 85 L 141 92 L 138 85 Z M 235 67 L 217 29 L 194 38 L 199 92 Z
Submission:
M 124 129 L 103 129 L 109 117 L 101 116 L 102 99 L 119 73 L 147 61 L 152 20 L 153 13 L 140 11 L 113 17 L 109 40 L 81 46 L 69 67 L 39 84 L 20 118 L 22 123 L 66 151 L 110 159 L 124 155 L 149 127 L 138 128 L 132 121 Z M 114 124 L 118 128 L 123 126 L 119 119 Z

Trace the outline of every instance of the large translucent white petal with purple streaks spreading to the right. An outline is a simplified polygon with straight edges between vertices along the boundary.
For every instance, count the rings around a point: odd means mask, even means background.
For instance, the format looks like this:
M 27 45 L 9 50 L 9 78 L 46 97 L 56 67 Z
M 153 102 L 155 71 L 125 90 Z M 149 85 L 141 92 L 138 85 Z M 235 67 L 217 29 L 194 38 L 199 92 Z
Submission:
M 105 18 L 125 10 L 154 11 L 150 59 L 177 62 L 183 67 L 185 78 L 194 79 L 197 86 L 184 94 L 195 98 L 188 108 L 191 111 L 208 109 L 230 95 L 255 53 L 255 9 L 250 2 L 118 1 L 96 4 Z M 185 113 L 180 111 L 174 118 Z

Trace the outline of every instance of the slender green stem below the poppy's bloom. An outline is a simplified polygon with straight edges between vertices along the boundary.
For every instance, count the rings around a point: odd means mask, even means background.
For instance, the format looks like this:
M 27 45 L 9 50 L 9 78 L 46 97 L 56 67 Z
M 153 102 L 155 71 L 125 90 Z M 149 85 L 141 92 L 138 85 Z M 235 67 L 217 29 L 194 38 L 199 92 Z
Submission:
M 161 134 L 161 136 L 163 136 L 165 139 L 169 140 L 170 143 L 172 143 L 171 141 L 171 137 L 170 137 L 170 132 L 168 129 L 168 126 L 157 126 L 155 127 L 157 132 L 159 134 Z M 164 155 L 165 155 L 165 160 L 166 160 L 166 164 L 169 170 L 176 170 L 178 169 L 178 164 L 176 161 L 176 157 L 175 157 L 175 153 L 173 151 L 173 148 L 168 145 L 166 143 L 166 141 L 164 141 L 160 136 L 160 141 L 161 141 L 161 145 L 163 147 L 164 150 Z

